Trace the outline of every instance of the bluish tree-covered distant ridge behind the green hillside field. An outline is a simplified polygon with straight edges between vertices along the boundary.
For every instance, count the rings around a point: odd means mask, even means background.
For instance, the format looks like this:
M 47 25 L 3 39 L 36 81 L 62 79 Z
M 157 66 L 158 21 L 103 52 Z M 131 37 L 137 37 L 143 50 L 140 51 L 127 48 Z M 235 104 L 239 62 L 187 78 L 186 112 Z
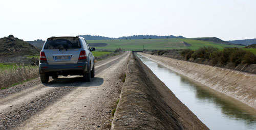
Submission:
M 92 35 L 79 35 L 80 37 L 85 38 L 86 40 L 110 40 L 110 39 L 164 39 L 164 38 L 185 38 L 183 36 L 157 36 L 157 35 L 133 35 L 133 36 L 123 36 L 119 38 L 110 38 L 103 36 L 92 36 Z

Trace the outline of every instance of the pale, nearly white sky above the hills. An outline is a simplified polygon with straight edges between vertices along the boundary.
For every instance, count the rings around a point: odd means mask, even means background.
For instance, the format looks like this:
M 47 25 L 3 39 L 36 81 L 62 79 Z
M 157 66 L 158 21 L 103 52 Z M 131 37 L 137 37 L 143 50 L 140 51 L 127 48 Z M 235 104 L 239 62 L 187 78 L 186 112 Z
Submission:
M 256 38 L 255 0 L 1 0 L 0 37 L 174 35 Z

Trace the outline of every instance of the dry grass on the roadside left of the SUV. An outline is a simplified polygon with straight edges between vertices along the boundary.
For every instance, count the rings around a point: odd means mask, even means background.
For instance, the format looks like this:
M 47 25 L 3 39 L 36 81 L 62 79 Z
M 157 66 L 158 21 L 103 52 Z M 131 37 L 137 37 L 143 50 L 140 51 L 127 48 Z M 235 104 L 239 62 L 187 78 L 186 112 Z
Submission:
M 0 69 L 0 89 L 10 87 L 39 76 L 37 66 L 13 66 Z

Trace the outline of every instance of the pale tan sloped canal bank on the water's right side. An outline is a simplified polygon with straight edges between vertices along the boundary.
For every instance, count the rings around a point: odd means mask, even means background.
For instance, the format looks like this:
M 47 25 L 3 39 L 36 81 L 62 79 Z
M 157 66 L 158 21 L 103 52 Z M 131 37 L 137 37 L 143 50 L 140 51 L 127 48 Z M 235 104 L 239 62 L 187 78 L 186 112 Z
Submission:
M 256 109 L 256 74 L 139 54 Z

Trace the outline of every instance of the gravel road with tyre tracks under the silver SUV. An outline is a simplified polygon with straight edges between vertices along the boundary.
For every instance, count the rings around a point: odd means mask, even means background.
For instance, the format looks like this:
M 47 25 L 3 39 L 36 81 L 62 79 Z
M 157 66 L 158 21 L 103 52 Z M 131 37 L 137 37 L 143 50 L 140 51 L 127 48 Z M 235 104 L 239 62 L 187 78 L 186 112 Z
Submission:
M 0 129 L 110 129 L 130 52 L 99 61 L 95 77 L 39 78 L 0 91 Z

